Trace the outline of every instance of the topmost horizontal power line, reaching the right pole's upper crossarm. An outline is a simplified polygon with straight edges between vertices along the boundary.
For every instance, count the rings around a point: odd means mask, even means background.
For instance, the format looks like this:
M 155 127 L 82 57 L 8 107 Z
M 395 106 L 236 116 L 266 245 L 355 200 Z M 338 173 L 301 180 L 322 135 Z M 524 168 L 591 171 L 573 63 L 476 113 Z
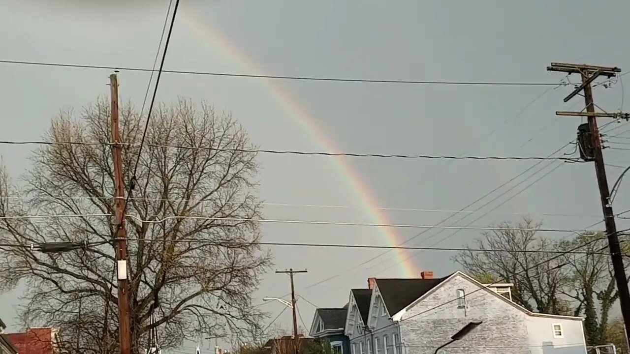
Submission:
M 167 42 L 168 43 L 168 42 Z M 68 67 L 75 69 L 106 69 L 117 71 L 139 71 L 151 72 L 153 69 L 140 67 L 116 67 L 89 64 L 63 64 L 52 62 L 35 62 L 26 60 L 0 60 L 3 64 L 20 64 L 28 66 L 48 66 L 48 67 Z M 168 74 L 188 74 L 202 76 L 226 76 L 226 77 L 248 77 L 257 79 L 279 79 L 295 81 L 329 81 L 338 83 L 373 83 L 373 84 L 433 84 L 433 85 L 469 85 L 469 86 L 557 86 L 558 83 L 543 82 L 506 82 L 506 81 L 429 81 L 429 80 L 392 80 L 392 79 L 352 79 L 342 77 L 312 77 L 312 76 L 280 76 L 262 74 L 236 74 L 229 72 L 207 72 L 207 71 L 185 71 L 185 70 L 161 70 Z

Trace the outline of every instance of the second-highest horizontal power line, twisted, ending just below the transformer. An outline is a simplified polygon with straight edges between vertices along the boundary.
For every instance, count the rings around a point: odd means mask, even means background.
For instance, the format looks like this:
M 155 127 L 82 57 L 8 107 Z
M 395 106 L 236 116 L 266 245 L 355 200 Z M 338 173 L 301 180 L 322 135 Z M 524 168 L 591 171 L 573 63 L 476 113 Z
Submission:
M 13 140 L 0 140 L 0 144 L 9 144 L 9 145 L 30 145 L 30 144 L 38 144 L 38 145 L 113 145 L 103 144 L 97 142 L 45 142 L 45 141 L 13 141 Z M 122 144 L 127 147 L 139 147 L 142 149 L 142 146 L 147 147 L 157 147 L 157 148 L 174 148 L 174 149 L 188 149 L 188 150 L 208 150 L 208 151 L 219 151 L 219 152 L 245 152 L 245 153 L 266 153 L 266 154 L 286 154 L 286 155 L 302 155 L 302 156 L 346 156 L 346 157 L 384 157 L 384 158 L 401 158 L 401 159 L 452 159 L 452 160 L 520 160 L 520 161 L 529 161 L 529 160 L 539 160 L 539 161 L 566 161 L 570 163 L 581 163 L 582 161 L 577 157 L 562 157 L 562 156 L 548 156 L 548 157 L 539 157 L 539 156 L 529 156 L 529 157 L 520 157 L 520 156 L 433 156 L 433 155 L 406 155 L 406 154 L 362 154 L 362 153 L 354 153 L 354 152 L 324 152 L 324 151 L 295 151 L 295 150 L 270 150 L 270 149 L 234 149 L 234 148 L 221 148 L 217 149 L 214 147 L 195 147 L 195 146 L 175 146 L 175 145 L 161 145 L 161 144 Z M 134 173 L 135 174 L 135 173 Z

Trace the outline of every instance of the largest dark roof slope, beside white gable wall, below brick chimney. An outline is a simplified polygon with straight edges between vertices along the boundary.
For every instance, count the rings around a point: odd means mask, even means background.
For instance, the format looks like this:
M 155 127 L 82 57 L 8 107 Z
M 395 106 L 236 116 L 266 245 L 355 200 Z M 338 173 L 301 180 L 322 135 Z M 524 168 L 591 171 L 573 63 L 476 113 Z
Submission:
M 449 275 L 450 277 L 450 275 Z M 394 316 L 446 278 L 437 279 L 376 279 L 389 316 Z

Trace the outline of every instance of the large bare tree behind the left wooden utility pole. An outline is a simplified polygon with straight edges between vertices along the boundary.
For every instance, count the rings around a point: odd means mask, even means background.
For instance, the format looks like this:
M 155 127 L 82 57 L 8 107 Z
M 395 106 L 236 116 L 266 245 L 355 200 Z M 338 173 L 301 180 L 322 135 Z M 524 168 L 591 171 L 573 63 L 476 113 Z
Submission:
M 38 148 L 21 183 L 0 174 L 1 215 L 75 215 L 0 220 L 0 243 L 89 244 L 59 254 L 0 247 L 3 290 L 28 288 L 23 324 L 59 327 L 64 347 L 81 353 L 113 353 L 118 343 L 109 109 L 98 100 L 79 118 L 60 113 L 45 139 L 79 144 Z M 120 121 L 130 181 L 145 120 L 127 105 Z M 264 315 L 251 293 L 270 254 L 259 244 L 258 166 L 246 132 L 231 115 L 181 100 L 154 111 L 146 144 L 125 213 L 135 352 L 153 327 L 164 348 L 200 334 L 256 333 Z

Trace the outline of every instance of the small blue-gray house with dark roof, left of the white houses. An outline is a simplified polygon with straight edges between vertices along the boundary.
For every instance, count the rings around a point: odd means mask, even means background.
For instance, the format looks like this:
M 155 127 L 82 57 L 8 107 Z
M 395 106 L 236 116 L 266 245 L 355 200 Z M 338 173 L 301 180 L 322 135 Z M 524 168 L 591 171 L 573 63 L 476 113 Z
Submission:
M 309 334 L 329 341 L 333 354 L 350 354 L 350 341 L 343 333 L 348 305 L 338 309 L 316 309 Z

